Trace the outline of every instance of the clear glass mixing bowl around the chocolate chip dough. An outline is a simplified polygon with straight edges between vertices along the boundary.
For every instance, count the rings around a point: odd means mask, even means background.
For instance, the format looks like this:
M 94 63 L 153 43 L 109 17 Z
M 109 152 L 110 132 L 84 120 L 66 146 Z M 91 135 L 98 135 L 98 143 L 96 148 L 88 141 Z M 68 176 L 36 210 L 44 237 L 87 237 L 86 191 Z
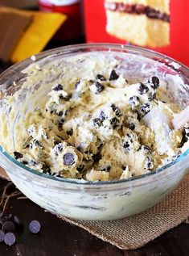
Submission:
M 42 52 L 36 55 L 35 63 L 39 63 L 43 69 L 43 65 L 51 64 L 56 58 L 64 61 L 64 57 L 91 51 L 121 53 L 124 61 L 119 67 L 119 72 L 126 73 L 127 79 L 138 81 L 140 78 L 149 78 L 156 74 L 165 82 L 166 94 L 182 107 L 187 106 L 189 69 L 171 58 L 144 48 L 117 44 L 80 44 Z M 33 62 L 27 59 L 1 74 L 0 111 L 3 98 L 7 94 L 14 94 L 23 85 L 27 75 L 22 73 L 22 70 Z M 172 86 L 172 78 L 175 76 L 182 78 L 185 85 L 178 82 Z M 24 95 L 20 97 L 18 110 L 26 101 Z M 9 115 L 9 112 L 6 112 L 6 115 Z M 2 136 L 2 131 L 0 132 Z M 14 131 L 12 132 L 14 141 Z M 115 220 L 151 208 L 179 185 L 187 173 L 188 162 L 189 150 L 166 166 L 141 176 L 108 182 L 90 182 L 39 173 L 15 160 L 2 147 L 0 149 L 0 165 L 24 195 L 50 212 L 82 220 Z

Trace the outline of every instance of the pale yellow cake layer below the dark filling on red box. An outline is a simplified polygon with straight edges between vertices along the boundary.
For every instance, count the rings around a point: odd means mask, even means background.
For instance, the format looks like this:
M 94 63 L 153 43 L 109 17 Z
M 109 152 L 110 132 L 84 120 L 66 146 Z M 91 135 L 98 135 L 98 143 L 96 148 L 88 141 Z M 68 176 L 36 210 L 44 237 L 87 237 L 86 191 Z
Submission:
M 170 24 L 165 21 L 111 10 L 106 10 L 106 15 L 106 31 L 121 40 L 149 47 L 170 44 Z

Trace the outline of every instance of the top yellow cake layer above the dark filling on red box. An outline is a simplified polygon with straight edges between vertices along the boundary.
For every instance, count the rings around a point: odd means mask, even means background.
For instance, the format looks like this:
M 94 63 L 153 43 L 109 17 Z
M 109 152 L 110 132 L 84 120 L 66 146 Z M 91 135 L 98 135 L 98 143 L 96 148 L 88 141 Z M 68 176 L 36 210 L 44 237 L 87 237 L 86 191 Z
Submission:
M 155 10 L 160 10 L 166 14 L 170 14 L 169 3 L 170 0 L 106 0 L 106 2 L 121 2 L 125 4 L 142 4 L 150 6 Z

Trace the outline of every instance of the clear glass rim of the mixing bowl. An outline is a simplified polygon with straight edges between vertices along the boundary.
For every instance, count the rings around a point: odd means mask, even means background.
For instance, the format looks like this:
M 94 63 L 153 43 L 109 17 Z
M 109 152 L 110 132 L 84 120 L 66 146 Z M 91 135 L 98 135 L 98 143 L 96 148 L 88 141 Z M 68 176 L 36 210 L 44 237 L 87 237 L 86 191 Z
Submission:
M 35 55 L 35 61 L 39 61 L 41 59 L 43 59 L 44 57 L 47 56 L 54 56 L 57 54 L 67 54 L 67 53 L 72 53 L 74 50 L 78 51 L 81 49 L 86 49 L 86 48 L 94 48 L 94 50 L 97 50 L 97 48 L 105 48 L 107 50 L 107 48 L 113 50 L 113 49 L 117 49 L 117 50 L 121 50 L 122 52 L 129 52 L 129 53 L 133 53 L 133 54 L 137 54 L 137 55 L 142 55 L 143 57 L 146 57 L 145 54 L 148 54 L 148 57 L 157 57 L 159 58 L 159 60 L 165 59 L 167 61 L 167 63 L 164 63 L 165 65 L 167 65 L 168 67 L 170 67 L 171 69 L 174 69 L 174 67 L 171 65 L 171 62 L 174 62 L 175 64 L 178 64 L 180 67 L 182 67 L 183 69 L 183 73 L 188 73 L 188 78 L 189 78 L 189 68 L 187 68 L 186 65 L 183 65 L 182 63 L 180 63 L 179 61 L 175 61 L 173 58 L 171 57 L 167 57 L 166 55 L 159 53 L 159 52 L 155 52 L 153 50 L 150 49 L 146 49 L 146 48 L 141 48 L 141 47 L 137 47 L 137 46 L 127 46 L 127 45 L 123 45 L 123 44 L 104 44 L 104 43 L 100 43 L 100 44 L 73 44 L 73 45 L 68 45 L 68 46 L 63 46 L 60 48 L 53 48 L 51 50 L 47 50 L 44 52 L 40 52 L 39 54 Z M 77 53 L 77 52 L 76 52 Z M 143 54 L 144 55 L 143 55 Z M 146 58 L 148 58 L 146 57 Z M 154 61 L 158 61 L 154 60 Z M 169 62 L 168 62 L 169 61 Z M 171 61 L 171 62 L 170 62 Z M 14 69 L 14 72 L 16 71 L 16 69 L 21 68 L 24 64 L 30 65 L 31 63 L 33 63 L 33 61 L 31 60 L 31 57 L 27 58 L 24 61 L 20 61 L 19 63 L 16 63 L 12 66 L 10 66 L 9 69 L 6 69 L 3 73 L 1 73 L 0 78 L 2 78 L 2 76 L 6 76 L 6 73 L 11 73 L 12 69 Z M 170 65 L 169 65 L 170 64 Z M 179 70 L 178 70 L 178 73 Z M 0 85 L 0 89 L 1 89 L 1 85 Z M 156 170 L 153 170 L 149 173 L 146 174 L 142 174 L 142 175 L 138 175 L 132 178 L 124 178 L 124 179 L 119 179 L 119 180 L 111 180 L 111 181 L 85 181 L 83 179 L 76 179 L 76 178 L 60 178 L 60 177 L 55 177 L 52 176 L 50 174 L 43 174 L 40 173 L 37 170 L 31 169 L 30 167 L 27 167 L 25 165 L 23 165 L 21 162 L 18 162 L 14 157 L 11 157 L 8 153 L 6 153 L 3 149 L 2 146 L 0 145 L 0 152 L 3 153 L 3 155 L 8 158 L 8 161 L 12 162 L 13 165 L 19 166 L 20 168 L 22 168 L 23 170 L 27 170 L 27 172 L 31 173 L 31 174 L 35 174 L 36 177 L 40 176 L 43 178 L 47 178 L 47 179 L 51 179 L 57 182 L 62 182 L 62 183 L 74 183 L 74 184 L 81 184 L 81 185 L 105 185 L 105 184 L 115 184 L 115 183 L 128 183 L 131 181 L 135 181 L 135 180 L 141 180 L 144 179 L 146 177 L 149 176 L 153 176 L 154 174 L 158 174 L 160 172 L 162 172 L 163 170 L 166 170 L 167 168 L 170 168 L 171 166 L 174 166 L 176 163 L 178 162 L 183 162 L 184 159 L 187 157 L 187 155 L 189 155 L 189 149 L 187 149 L 187 151 L 185 153 L 183 153 L 181 156 L 179 156 L 178 158 L 176 158 L 174 161 L 168 163 L 165 166 L 162 166 Z M 176 168 L 175 168 L 176 169 Z

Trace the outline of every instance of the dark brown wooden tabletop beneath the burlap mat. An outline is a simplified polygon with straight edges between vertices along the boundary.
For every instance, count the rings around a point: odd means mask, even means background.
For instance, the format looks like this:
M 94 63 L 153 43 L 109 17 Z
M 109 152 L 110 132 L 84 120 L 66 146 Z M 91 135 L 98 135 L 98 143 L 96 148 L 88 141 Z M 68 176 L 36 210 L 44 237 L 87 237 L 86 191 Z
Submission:
M 0 195 L 6 186 L 0 179 Z M 0 243 L 0 256 L 188 256 L 189 225 L 181 224 L 138 250 L 120 250 L 51 213 L 29 199 L 10 199 L 6 212 L 23 220 L 23 233 L 16 234 L 17 243 Z M 39 220 L 42 229 L 31 234 L 28 224 Z

